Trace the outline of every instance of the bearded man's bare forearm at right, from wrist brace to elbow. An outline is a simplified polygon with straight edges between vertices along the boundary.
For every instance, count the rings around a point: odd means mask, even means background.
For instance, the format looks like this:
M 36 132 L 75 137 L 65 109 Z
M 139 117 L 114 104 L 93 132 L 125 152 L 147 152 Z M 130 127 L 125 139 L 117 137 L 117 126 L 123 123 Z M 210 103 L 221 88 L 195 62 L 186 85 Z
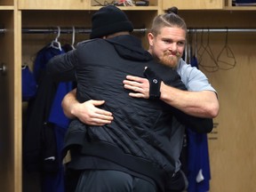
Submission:
M 191 116 L 213 118 L 218 115 L 219 101 L 211 91 L 188 92 L 168 86 L 162 82 L 161 97 L 165 103 Z

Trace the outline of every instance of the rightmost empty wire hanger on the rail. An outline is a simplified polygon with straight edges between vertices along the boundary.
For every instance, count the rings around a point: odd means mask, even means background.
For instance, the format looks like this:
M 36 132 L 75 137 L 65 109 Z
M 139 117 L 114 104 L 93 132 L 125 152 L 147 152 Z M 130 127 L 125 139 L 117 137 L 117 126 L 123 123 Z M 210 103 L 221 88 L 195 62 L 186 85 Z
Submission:
M 226 32 L 225 44 L 220 54 L 217 57 L 217 62 L 220 69 L 228 70 L 231 68 L 235 68 L 236 66 L 236 58 L 230 47 L 228 46 L 228 28 Z

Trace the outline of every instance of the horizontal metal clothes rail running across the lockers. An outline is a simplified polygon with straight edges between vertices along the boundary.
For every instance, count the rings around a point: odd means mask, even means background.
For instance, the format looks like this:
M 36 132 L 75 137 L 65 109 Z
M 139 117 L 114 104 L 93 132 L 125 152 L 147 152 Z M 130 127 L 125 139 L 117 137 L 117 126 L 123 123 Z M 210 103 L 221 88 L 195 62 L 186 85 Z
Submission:
M 90 34 L 91 28 L 75 28 L 76 33 L 78 34 Z M 0 28 L 0 34 L 5 33 L 6 28 Z M 136 33 L 146 33 L 147 28 L 134 28 L 133 30 Z M 251 32 L 255 33 L 256 28 L 188 28 L 188 32 L 210 32 L 210 33 L 225 33 L 225 32 Z M 58 33 L 58 28 L 22 28 L 22 34 L 52 34 Z M 61 34 L 72 34 L 73 28 L 60 28 Z

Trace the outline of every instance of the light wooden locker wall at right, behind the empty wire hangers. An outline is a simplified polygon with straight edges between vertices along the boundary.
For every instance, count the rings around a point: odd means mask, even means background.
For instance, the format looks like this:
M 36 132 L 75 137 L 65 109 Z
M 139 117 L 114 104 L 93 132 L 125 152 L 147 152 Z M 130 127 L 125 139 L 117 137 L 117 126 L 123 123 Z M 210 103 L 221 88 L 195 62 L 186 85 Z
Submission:
M 180 12 L 188 28 L 256 28 L 256 12 Z M 204 34 L 204 46 L 207 34 Z M 225 33 L 210 33 L 209 46 L 215 60 L 225 45 Z M 200 35 L 198 36 L 200 45 Z M 211 192 L 254 191 L 256 180 L 256 33 L 229 32 L 228 48 L 236 58 L 235 68 L 207 72 L 217 90 L 220 113 L 216 128 L 208 135 L 211 162 Z M 209 48 L 208 48 L 209 49 Z M 233 59 L 229 59 L 231 62 Z M 202 64 L 214 66 L 207 52 Z M 223 63 L 220 67 L 225 68 Z M 209 68 L 208 68 L 209 69 Z

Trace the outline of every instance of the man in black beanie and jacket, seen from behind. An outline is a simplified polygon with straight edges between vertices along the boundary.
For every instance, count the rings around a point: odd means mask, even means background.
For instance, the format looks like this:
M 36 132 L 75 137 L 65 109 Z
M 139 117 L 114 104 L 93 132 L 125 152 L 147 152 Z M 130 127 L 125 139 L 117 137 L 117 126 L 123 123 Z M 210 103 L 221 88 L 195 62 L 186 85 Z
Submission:
M 169 138 L 173 114 L 195 129 L 212 129 L 212 119 L 186 116 L 158 100 L 161 81 L 185 87 L 175 70 L 156 63 L 129 35 L 132 29 L 116 6 L 100 8 L 92 16 L 92 39 L 47 64 L 52 78 L 76 80 L 79 102 L 105 100 L 101 108 L 114 116 L 111 124 L 92 126 L 78 119 L 69 124 L 63 150 L 68 192 L 170 191 L 176 164 Z M 122 84 L 128 74 L 148 78 L 151 100 L 128 95 Z M 177 122 L 175 129 L 184 126 Z

